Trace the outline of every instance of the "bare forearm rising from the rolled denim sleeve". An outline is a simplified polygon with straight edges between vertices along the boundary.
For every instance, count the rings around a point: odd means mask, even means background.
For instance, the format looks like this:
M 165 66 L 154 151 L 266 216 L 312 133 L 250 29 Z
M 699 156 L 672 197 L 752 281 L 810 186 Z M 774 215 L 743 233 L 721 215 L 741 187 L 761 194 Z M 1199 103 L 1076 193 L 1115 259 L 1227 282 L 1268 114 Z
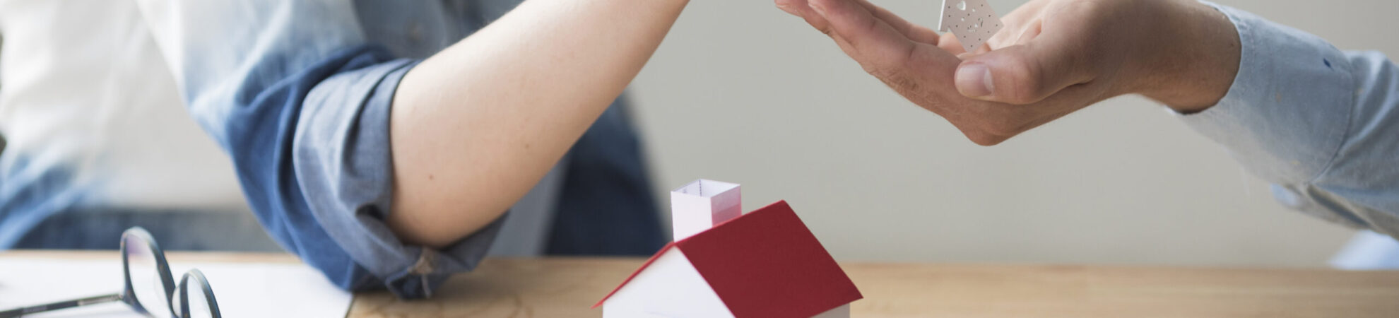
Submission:
M 527 0 L 410 70 L 393 98 L 404 241 L 443 247 L 539 182 L 641 71 L 688 0 Z

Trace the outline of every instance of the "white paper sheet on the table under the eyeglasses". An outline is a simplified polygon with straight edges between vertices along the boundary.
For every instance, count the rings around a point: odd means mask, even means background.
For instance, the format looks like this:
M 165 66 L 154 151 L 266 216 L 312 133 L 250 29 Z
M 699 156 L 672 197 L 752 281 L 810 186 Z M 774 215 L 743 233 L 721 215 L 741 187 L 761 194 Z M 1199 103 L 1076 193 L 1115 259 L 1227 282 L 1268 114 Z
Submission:
M 302 263 L 172 262 L 176 284 L 186 270 L 204 272 L 224 317 L 346 317 L 351 294 Z M 122 261 L 0 259 L 0 310 L 122 290 Z M 25 317 L 141 317 L 125 303 L 85 305 Z

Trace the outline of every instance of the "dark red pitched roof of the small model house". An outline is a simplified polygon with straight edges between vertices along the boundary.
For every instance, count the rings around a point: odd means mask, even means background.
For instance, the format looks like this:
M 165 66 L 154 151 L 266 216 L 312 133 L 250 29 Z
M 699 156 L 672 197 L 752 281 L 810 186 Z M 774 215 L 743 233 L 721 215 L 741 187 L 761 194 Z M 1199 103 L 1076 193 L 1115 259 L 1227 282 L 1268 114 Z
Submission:
M 690 259 L 737 318 L 813 317 L 865 298 L 786 202 L 667 244 L 607 297 L 670 248 Z

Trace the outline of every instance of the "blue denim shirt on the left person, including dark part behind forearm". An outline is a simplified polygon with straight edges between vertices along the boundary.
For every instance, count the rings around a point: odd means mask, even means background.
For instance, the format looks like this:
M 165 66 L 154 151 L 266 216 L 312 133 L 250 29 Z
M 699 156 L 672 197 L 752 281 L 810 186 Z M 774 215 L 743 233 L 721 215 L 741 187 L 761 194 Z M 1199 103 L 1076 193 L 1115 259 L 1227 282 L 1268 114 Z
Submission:
M 502 221 L 442 249 L 389 231 L 393 92 L 420 59 L 515 4 L 139 0 L 190 115 L 234 158 L 267 233 L 343 289 L 403 298 L 471 270 Z M 625 118 L 614 104 L 561 164 L 548 252 L 644 255 L 663 244 Z

